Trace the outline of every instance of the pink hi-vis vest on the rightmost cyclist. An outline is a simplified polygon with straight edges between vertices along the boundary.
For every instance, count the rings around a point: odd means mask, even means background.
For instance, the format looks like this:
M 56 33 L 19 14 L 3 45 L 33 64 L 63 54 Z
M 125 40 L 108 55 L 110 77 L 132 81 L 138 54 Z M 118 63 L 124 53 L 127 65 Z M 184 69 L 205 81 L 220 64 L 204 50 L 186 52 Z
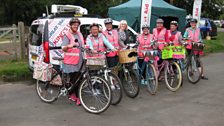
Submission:
M 197 28 L 195 32 L 193 32 L 190 28 L 187 29 L 188 32 L 188 41 L 187 42 L 199 42 L 200 29 Z M 192 45 L 187 45 L 187 49 L 192 49 Z

